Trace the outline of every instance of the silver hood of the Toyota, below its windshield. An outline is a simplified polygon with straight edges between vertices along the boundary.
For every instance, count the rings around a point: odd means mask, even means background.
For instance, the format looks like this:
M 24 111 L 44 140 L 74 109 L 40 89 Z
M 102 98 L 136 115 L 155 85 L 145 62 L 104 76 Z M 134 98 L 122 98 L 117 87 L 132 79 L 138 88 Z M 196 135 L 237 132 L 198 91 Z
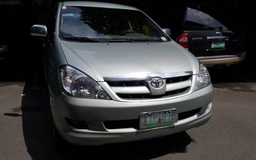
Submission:
M 192 71 L 199 63 L 174 41 L 155 43 L 79 43 L 61 41 L 68 65 L 98 82 L 106 77 L 136 77 Z

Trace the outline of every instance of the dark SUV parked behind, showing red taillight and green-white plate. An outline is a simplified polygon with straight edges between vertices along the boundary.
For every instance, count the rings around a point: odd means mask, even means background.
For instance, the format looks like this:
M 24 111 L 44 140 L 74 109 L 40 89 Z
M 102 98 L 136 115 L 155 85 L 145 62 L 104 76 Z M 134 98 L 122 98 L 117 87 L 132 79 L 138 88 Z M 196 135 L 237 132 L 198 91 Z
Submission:
M 241 36 L 210 16 L 217 13 L 223 21 L 231 21 L 219 11 L 212 6 L 187 7 L 182 30 L 176 36 L 177 43 L 188 48 L 206 67 L 241 63 L 246 55 Z

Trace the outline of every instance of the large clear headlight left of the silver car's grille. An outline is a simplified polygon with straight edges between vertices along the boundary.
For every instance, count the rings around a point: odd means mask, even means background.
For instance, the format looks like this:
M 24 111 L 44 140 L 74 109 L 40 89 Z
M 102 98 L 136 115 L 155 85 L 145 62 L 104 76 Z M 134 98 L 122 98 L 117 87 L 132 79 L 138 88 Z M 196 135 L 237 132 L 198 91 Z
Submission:
M 64 91 L 69 95 L 89 99 L 110 99 L 96 81 L 68 65 L 59 69 L 59 77 Z

